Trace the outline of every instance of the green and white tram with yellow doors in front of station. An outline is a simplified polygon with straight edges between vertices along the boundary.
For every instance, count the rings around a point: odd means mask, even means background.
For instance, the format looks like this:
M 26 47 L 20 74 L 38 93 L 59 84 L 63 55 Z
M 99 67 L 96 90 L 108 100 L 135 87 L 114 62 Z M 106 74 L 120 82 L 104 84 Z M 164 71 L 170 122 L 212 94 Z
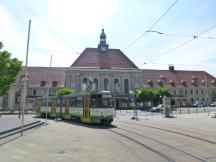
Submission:
M 36 106 L 38 116 L 47 114 L 84 123 L 110 124 L 115 114 L 114 98 L 109 92 L 39 97 Z

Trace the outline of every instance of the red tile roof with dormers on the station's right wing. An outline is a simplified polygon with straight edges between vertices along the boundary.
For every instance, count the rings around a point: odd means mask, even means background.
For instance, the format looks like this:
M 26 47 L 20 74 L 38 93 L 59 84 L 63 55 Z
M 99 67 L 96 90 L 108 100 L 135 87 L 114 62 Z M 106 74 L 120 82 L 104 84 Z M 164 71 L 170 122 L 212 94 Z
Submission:
M 142 70 L 142 72 L 144 84 L 148 84 L 148 80 L 151 80 L 154 86 L 159 84 L 166 86 L 201 86 L 205 85 L 206 81 L 207 85 L 216 85 L 216 78 L 205 71 Z

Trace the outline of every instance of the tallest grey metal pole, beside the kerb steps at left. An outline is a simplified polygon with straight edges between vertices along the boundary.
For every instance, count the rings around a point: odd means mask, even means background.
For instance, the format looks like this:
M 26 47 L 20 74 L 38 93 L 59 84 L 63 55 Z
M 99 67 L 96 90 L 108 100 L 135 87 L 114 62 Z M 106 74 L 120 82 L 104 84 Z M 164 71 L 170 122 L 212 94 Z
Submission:
M 24 76 L 24 90 L 23 90 L 23 100 L 22 100 L 22 127 L 21 127 L 21 136 L 23 135 L 23 124 L 24 124 L 24 110 L 26 107 L 26 82 L 27 82 L 27 66 L 28 66 L 28 51 L 29 51 L 29 38 L 30 38 L 30 29 L 31 29 L 31 20 L 29 20 L 28 27 L 28 40 L 27 40 L 27 49 L 26 49 L 26 62 L 25 62 L 25 76 Z

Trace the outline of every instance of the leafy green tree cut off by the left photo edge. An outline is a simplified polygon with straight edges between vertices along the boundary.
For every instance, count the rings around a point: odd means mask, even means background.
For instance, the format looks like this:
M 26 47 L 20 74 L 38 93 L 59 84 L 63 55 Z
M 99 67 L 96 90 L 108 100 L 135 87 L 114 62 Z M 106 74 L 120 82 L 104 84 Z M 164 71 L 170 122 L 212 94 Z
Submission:
M 0 42 L 0 96 L 5 95 L 10 89 L 11 84 L 16 81 L 17 75 L 22 70 L 22 61 L 11 58 L 11 53 L 2 51 Z

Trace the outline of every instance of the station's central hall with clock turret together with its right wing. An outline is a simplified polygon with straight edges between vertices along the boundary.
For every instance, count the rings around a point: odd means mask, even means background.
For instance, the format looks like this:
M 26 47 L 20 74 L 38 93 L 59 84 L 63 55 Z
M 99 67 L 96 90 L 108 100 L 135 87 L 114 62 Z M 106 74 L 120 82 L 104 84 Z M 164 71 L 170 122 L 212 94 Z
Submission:
M 115 94 L 119 107 L 126 107 L 130 91 L 168 88 L 173 106 L 216 100 L 216 79 L 205 71 L 139 69 L 120 49 L 110 49 L 102 29 L 97 48 L 86 48 L 66 72 L 66 86 L 85 91 L 91 80 L 96 91 Z M 117 103 L 118 103 L 117 101 Z

